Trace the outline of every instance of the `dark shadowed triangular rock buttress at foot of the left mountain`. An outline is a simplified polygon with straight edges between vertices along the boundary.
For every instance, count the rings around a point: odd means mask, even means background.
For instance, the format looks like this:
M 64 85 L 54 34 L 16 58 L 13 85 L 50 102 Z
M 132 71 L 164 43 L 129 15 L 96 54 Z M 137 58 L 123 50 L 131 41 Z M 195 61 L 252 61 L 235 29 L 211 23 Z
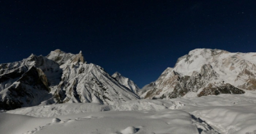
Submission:
M 39 105 L 49 94 L 49 88 L 44 81 L 46 79 L 40 69 L 32 66 L 12 86 L 1 92 L 1 108 L 10 110 Z

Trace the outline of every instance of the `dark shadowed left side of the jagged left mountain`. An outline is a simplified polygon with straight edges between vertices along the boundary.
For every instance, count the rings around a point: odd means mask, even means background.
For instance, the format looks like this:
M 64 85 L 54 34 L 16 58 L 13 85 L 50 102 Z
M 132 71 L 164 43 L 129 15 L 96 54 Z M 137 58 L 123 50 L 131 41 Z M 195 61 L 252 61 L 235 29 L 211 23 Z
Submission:
M 49 86 L 60 82 L 62 70 L 43 56 L 31 54 L 27 59 L 0 64 L 0 109 L 39 105 L 51 98 Z

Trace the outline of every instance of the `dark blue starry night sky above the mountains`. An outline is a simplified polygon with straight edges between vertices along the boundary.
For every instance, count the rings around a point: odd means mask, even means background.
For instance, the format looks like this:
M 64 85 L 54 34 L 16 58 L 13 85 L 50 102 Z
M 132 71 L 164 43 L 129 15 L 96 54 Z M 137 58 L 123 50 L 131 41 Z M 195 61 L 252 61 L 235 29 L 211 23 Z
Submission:
M 0 63 L 59 48 L 139 87 L 194 48 L 256 52 L 256 1 L 0 0 Z

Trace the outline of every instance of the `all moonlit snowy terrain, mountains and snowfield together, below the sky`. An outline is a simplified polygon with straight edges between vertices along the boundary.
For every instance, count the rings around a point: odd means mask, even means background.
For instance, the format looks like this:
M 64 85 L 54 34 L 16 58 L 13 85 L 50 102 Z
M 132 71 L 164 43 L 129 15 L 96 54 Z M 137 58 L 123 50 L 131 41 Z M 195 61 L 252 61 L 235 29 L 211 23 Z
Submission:
M 1 64 L 0 134 L 256 134 L 255 56 L 192 50 L 179 68 L 167 68 L 141 90 L 119 73 L 111 77 L 87 64 L 81 52 L 55 50 Z M 213 95 L 215 89 L 230 94 Z

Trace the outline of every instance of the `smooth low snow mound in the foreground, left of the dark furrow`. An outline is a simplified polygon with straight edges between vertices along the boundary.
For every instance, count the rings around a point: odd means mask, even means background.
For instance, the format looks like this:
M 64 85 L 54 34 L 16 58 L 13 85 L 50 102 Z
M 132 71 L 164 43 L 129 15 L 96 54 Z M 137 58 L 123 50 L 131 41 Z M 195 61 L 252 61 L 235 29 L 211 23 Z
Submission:
M 15 117 L 12 117 L 12 114 L 0 113 L 0 119 L 3 121 L 0 122 L 0 133 L 198 134 L 196 125 L 204 125 L 192 119 L 187 112 L 169 109 L 158 112 L 88 112 L 51 118 L 24 117 L 24 115 L 15 115 Z M 9 126 L 12 123 L 17 123 L 15 129 Z M 205 130 L 209 128 L 206 126 Z

